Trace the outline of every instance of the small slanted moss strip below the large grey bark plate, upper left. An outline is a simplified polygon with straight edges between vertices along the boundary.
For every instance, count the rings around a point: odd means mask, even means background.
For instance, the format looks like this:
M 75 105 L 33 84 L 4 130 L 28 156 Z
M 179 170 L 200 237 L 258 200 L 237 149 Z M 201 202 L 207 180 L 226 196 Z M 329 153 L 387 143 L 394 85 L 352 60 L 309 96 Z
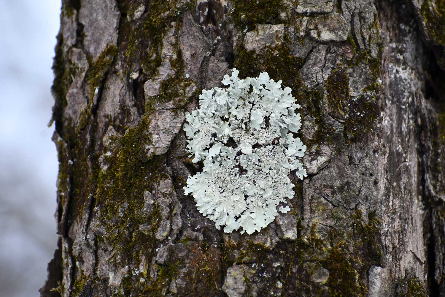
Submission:
M 86 74 L 86 79 L 89 84 L 89 97 L 94 97 L 96 88 L 101 84 L 104 75 L 109 69 L 114 56 L 117 54 L 117 47 L 115 45 L 107 45 L 105 50 L 97 57 L 96 61 L 89 61 L 89 69 Z

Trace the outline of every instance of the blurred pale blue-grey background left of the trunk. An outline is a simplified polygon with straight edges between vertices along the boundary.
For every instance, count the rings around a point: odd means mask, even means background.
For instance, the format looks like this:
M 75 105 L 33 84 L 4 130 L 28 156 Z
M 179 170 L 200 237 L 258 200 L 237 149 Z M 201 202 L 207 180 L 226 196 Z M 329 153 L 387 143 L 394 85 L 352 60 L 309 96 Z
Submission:
M 0 296 L 34 297 L 57 235 L 51 141 L 60 0 L 0 1 Z

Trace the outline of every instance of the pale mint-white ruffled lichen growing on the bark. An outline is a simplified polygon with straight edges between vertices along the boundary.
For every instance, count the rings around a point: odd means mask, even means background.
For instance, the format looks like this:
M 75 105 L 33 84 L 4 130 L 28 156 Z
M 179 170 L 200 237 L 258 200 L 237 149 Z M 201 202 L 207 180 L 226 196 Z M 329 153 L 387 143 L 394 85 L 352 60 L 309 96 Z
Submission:
M 282 89 L 282 81 L 266 72 L 245 79 L 238 74 L 233 69 L 224 77 L 227 89 L 203 90 L 200 107 L 186 113 L 187 151 L 204 167 L 184 190 L 216 228 L 252 234 L 275 219 L 279 203 L 280 212 L 290 210 L 286 197 L 295 193 L 288 175 L 307 176 L 298 159 L 306 146 L 292 134 L 301 116 L 291 88 Z

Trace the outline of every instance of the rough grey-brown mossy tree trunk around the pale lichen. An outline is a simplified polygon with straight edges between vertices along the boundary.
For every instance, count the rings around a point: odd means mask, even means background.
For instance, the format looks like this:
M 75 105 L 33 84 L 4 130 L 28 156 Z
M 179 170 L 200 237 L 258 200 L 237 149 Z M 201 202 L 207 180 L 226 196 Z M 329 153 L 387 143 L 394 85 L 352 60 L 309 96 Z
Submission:
M 444 18 L 443 0 L 63 0 L 41 296 L 445 296 Z M 185 112 L 232 68 L 291 87 L 307 145 L 292 211 L 251 235 L 183 190 L 202 170 Z

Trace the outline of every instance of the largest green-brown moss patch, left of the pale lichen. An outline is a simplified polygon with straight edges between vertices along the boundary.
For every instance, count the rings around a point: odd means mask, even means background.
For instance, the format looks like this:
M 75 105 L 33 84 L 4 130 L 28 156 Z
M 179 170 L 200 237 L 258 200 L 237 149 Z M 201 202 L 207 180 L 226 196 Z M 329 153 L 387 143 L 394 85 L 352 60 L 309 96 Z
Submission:
M 145 146 L 151 143 L 150 135 L 145 132 L 149 124 L 148 115 L 144 115 L 136 128 L 127 129 L 118 139 L 117 151 L 107 160 L 109 167 L 105 173 L 99 173 L 96 199 L 97 204 L 105 208 L 102 213 L 105 214 L 105 221 L 109 222 L 107 227 L 110 232 L 122 228 L 138 233 L 134 236 L 142 236 L 137 231 L 139 225 L 150 221 L 138 216 L 145 203 L 144 191 L 153 191 L 159 180 L 168 178 L 164 156 L 146 157 Z M 122 209 L 124 203 L 127 207 Z M 158 219 L 158 215 L 154 203 L 151 219 Z M 124 225 L 120 226 L 119 222 Z M 132 248 L 131 242 L 124 244 L 119 239 L 121 236 L 113 240 L 117 248 Z

